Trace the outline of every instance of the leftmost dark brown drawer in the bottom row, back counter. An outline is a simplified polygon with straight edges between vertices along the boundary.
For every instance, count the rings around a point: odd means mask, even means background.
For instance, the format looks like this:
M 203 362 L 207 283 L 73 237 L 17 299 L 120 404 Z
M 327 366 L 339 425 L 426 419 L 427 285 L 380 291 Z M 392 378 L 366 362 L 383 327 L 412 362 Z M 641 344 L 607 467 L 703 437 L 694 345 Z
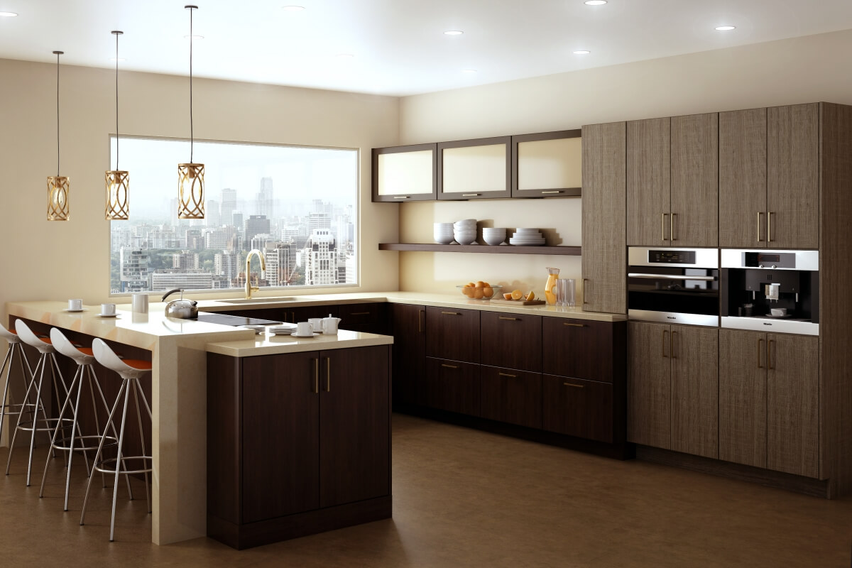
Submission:
M 450 359 L 426 358 L 423 396 L 430 408 L 479 416 L 480 366 Z

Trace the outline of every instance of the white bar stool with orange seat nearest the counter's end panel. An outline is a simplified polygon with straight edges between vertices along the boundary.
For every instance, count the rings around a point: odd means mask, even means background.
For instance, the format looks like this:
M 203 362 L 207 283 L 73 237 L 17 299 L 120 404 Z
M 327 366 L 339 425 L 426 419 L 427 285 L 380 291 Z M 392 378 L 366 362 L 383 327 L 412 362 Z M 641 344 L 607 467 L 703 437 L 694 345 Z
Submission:
M 124 474 L 129 475 L 130 473 L 144 473 L 145 474 L 145 496 L 147 497 L 148 504 L 148 513 L 151 513 L 151 491 L 148 489 L 148 473 L 153 472 L 153 458 L 152 456 L 145 455 L 145 434 L 142 430 L 142 414 L 139 407 L 139 399 L 142 399 L 142 403 L 145 405 L 145 410 L 147 410 L 148 418 L 152 419 L 151 416 L 151 406 L 148 405 L 148 401 L 145 398 L 145 393 L 142 392 L 141 384 L 139 379 L 141 376 L 144 376 L 146 373 L 151 372 L 151 362 L 150 361 L 140 361 L 135 359 L 119 359 L 118 355 L 115 354 L 114 351 L 101 339 L 95 338 L 92 341 L 92 351 L 95 354 L 95 360 L 103 366 L 107 367 L 109 370 L 114 370 L 118 373 L 122 378 L 121 388 L 118 389 L 118 395 L 115 399 L 115 404 L 112 404 L 112 410 L 110 410 L 109 418 L 107 418 L 107 424 L 112 422 L 112 417 L 115 416 L 116 410 L 118 410 L 118 404 L 121 402 L 121 395 L 124 393 L 124 410 L 122 410 L 121 414 L 121 428 L 118 431 L 118 448 L 117 453 L 114 458 L 103 459 L 102 452 L 104 441 L 107 439 L 106 435 L 101 436 L 101 443 L 98 445 L 97 453 L 95 453 L 95 462 L 92 465 L 97 471 L 104 473 L 115 473 L 115 481 L 112 484 L 112 519 L 110 520 L 110 529 L 109 529 L 109 540 L 112 542 L 115 536 L 115 503 L 118 498 L 118 475 Z M 141 447 L 142 447 L 142 455 L 141 456 L 124 456 L 122 455 L 122 448 L 124 446 L 124 422 L 127 420 L 127 404 L 130 401 L 130 390 L 133 390 L 133 399 L 136 405 L 136 418 L 139 421 L 139 437 L 141 439 Z M 106 431 L 104 432 L 106 434 Z M 126 464 L 124 462 L 128 462 L 131 460 L 141 460 L 141 468 L 139 469 L 127 469 Z M 115 462 L 115 468 L 107 469 L 108 463 Z M 86 503 L 89 501 L 89 490 L 92 487 L 92 478 L 94 476 L 89 476 L 89 483 L 86 485 L 86 496 L 83 497 L 83 511 L 80 513 L 80 525 L 83 525 L 83 521 L 86 518 Z

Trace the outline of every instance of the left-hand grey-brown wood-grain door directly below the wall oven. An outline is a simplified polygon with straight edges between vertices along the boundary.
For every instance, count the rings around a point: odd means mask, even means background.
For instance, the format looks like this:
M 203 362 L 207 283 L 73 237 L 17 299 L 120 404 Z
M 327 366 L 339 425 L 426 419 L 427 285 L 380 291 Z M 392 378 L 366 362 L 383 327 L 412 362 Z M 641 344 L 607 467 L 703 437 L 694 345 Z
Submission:
M 627 441 L 671 449 L 671 326 L 627 324 Z

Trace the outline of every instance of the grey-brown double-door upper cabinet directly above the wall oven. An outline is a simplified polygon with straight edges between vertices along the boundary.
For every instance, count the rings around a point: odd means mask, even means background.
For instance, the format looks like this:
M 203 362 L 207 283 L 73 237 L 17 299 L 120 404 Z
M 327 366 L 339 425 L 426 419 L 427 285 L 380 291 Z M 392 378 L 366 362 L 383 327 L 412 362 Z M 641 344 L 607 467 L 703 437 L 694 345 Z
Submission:
M 627 244 L 718 246 L 718 113 L 627 123 Z

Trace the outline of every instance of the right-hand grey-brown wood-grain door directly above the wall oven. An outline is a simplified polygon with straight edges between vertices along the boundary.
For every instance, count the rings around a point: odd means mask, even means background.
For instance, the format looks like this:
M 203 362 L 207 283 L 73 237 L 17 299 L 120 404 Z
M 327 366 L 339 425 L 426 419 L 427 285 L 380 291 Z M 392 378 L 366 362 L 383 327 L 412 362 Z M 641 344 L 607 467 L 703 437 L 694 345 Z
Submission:
M 671 244 L 719 245 L 719 114 L 671 118 Z

